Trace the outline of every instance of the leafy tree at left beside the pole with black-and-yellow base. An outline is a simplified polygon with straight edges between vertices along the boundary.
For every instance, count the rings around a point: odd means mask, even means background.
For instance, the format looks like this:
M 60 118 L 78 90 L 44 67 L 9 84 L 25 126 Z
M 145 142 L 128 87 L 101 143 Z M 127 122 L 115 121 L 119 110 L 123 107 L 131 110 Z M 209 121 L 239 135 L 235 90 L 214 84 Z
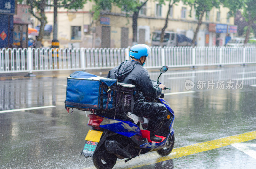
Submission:
M 23 0 L 18 0 L 19 3 L 22 3 Z M 47 24 L 47 18 L 45 15 L 45 8 L 47 6 L 54 6 L 53 4 L 47 4 L 47 0 L 27 0 L 27 5 L 30 6 L 29 12 L 39 20 L 40 22 L 40 31 L 37 37 L 36 48 L 40 47 L 43 35 L 44 35 L 44 27 Z M 79 7 L 83 7 L 86 3 L 86 0 L 58 0 L 57 7 L 58 8 L 66 8 L 66 9 L 77 9 Z M 33 10 L 35 9 L 36 12 Z

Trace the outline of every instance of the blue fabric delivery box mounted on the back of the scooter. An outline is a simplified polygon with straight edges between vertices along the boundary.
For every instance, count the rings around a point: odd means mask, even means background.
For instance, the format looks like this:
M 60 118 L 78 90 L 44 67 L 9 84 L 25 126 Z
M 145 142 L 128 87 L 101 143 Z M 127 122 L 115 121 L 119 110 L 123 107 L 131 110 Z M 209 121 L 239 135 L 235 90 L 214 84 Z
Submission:
M 107 110 L 115 107 L 116 79 L 76 71 L 67 77 L 65 107 L 79 110 Z

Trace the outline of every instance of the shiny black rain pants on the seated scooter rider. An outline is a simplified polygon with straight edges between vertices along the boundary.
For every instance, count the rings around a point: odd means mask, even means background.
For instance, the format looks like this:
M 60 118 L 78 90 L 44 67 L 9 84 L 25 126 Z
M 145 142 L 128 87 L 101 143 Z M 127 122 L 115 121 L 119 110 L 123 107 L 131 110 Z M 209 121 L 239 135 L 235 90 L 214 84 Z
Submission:
M 134 105 L 133 114 L 140 117 L 149 117 L 148 129 L 151 132 L 158 130 L 164 121 L 166 107 L 162 103 L 137 102 Z

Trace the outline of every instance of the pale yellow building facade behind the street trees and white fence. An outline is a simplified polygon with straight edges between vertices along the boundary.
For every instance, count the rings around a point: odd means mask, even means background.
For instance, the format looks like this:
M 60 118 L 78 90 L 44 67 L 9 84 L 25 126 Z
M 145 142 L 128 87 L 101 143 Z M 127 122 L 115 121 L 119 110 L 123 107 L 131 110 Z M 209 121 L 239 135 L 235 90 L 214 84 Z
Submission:
M 48 0 L 48 3 L 52 3 Z M 87 2 L 83 9 L 58 9 L 58 40 L 60 48 L 120 48 L 132 46 L 132 16 L 126 17 L 121 8 L 112 7 L 102 11 L 98 20 L 90 12 L 93 2 Z M 197 22 L 195 10 L 181 1 L 173 5 L 169 13 L 166 31 L 174 31 L 193 38 Z M 236 35 L 234 18 L 229 17 L 228 8 L 220 6 L 206 12 L 197 35 L 198 46 L 223 46 L 227 36 Z M 164 27 L 168 5 L 148 0 L 140 10 L 137 27 L 137 43 L 151 45 L 152 32 Z M 131 13 L 132 14 L 132 13 Z M 47 7 L 47 24 L 53 25 L 53 7 Z M 40 24 L 37 21 L 34 22 Z M 44 39 L 44 46 L 51 46 L 52 35 Z

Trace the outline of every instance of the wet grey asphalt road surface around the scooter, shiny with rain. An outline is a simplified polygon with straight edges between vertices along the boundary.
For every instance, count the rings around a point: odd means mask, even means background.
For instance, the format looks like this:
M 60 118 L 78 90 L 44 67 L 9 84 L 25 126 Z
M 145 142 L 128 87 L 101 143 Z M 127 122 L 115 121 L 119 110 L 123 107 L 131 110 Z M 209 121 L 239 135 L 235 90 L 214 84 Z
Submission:
M 64 108 L 68 75 L 10 80 L 0 75 L 0 168 L 93 168 L 92 158 L 80 156 L 89 112 L 71 115 Z M 151 79 L 158 75 L 150 73 Z M 255 135 L 239 140 L 250 151 L 227 145 L 188 154 L 186 147 L 256 130 L 256 66 L 170 69 L 160 81 L 172 88 L 164 91 L 164 99 L 175 112 L 174 153 L 120 160 L 115 168 L 256 168 Z M 189 83 L 194 88 L 187 90 Z M 42 106 L 54 107 L 26 109 Z M 184 155 L 171 159 L 182 147 Z

